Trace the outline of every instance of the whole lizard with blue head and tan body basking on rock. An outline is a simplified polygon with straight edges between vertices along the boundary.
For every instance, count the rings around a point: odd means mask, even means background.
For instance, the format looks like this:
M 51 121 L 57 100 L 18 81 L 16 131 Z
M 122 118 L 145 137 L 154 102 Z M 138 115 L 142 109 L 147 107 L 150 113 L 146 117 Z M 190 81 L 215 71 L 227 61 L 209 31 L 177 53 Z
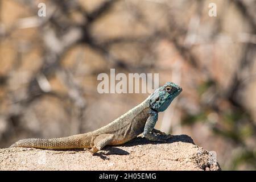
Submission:
M 84 150 L 94 154 L 107 145 L 123 144 L 141 134 L 144 138 L 154 142 L 166 142 L 172 135 L 154 129 L 156 121 L 158 121 L 158 113 L 166 110 L 181 91 L 182 88 L 180 86 L 173 82 L 166 82 L 166 84 L 151 93 L 141 104 L 100 129 L 62 138 L 22 139 L 10 147 L 43 149 L 84 148 Z

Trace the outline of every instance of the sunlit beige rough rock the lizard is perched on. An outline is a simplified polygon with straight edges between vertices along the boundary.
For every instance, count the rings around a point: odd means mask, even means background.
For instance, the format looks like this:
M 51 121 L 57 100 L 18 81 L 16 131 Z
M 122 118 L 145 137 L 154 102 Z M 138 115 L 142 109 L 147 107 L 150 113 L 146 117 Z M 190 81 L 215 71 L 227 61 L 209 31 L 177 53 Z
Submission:
M 138 137 L 98 154 L 84 150 L 0 149 L 0 170 L 220 170 L 213 154 L 187 135 L 167 143 Z

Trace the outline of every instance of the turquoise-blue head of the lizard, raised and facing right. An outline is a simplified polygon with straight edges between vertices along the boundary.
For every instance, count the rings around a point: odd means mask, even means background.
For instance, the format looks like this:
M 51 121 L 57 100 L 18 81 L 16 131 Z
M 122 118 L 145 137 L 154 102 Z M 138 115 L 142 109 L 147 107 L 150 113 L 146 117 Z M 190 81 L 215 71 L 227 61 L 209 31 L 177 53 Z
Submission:
M 150 108 L 158 112 L 166 110 L 172 100 L 174 100 L 181 91 L 182 88 L 180 86 L 173 82 L 167 82 L 150 95 Z

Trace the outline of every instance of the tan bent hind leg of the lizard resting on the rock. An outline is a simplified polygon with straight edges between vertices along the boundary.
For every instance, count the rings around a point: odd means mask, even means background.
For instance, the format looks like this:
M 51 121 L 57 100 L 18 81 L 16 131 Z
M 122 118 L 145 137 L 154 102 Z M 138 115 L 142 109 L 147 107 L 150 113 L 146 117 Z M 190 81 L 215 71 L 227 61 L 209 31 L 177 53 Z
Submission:
M 91 149 L 89 150 L 93 154 L 101 150 L 103 147 L 108 145 L 114 138 L 113 134 L 100 134 L 97 137 L 94 137 L 91 142 Z

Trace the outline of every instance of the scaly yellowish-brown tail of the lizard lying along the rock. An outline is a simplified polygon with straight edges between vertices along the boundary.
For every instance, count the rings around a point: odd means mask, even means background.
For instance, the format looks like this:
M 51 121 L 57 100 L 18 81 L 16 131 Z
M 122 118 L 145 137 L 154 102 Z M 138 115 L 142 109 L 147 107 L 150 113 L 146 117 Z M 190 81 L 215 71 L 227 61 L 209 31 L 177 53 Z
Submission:
M 46 149 L 65 149 L 65 148 L 88 148 L 89 136 L 85 134 L 73 135 L 71 137 L 63 138 L 28 138 L 22 139 L 14 143 L 10 147 L 33 147 L 33 148 L 46 148 Z

